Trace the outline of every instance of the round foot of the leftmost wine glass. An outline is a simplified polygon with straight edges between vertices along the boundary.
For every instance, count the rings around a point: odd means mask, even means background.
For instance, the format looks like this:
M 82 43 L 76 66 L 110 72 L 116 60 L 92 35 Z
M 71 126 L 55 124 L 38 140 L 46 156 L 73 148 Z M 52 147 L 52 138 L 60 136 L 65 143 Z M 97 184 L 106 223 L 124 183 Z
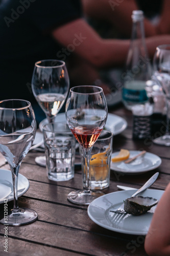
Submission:
M 19 208 L 18 212 L 8 211 L 8 215 L 4 211 L 0 215 L 0 223 L 9 226 L 21 226 L 34 222 L 37 220 L 37 212 L 28 208 Z

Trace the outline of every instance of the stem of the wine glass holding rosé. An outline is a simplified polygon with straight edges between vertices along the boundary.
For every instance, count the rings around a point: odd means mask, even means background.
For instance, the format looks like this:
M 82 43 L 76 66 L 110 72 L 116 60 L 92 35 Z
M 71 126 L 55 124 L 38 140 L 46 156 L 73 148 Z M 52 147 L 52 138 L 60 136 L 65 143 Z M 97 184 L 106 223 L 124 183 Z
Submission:
M 90 156 L 91 156 L 92 147 L 85 148 L 82 147 L 83 157 L 84 157 L 84 166 L 85 166 L 85 192 L 89 193 L 89 165 L 90 165 Z

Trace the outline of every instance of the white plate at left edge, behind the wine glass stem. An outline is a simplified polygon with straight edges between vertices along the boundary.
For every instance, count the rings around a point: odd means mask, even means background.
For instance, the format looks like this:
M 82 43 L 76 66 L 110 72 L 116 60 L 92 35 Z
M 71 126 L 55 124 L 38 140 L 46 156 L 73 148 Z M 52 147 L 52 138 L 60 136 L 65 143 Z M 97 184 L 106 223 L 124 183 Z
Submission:
M 28 179 L 25 176 L 19 174 L 18 197 L 25 194 L 29 187 L 30 183 Z M 4 203 L 4 199 L 8 199 L 8 202 L 14 199 L 12 174 L 10 170 L 0 169 L 0 204 Z

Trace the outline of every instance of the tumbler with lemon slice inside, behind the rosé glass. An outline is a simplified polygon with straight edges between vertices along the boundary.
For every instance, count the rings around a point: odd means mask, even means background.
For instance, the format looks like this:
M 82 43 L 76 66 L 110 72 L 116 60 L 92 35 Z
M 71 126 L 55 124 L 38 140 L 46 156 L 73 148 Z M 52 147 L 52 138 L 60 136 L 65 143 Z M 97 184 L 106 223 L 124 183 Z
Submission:
M 93 145 L 89 169 L 90 189 L 104 189 L 110 182 L 110 161 L 113 146 L 113 134 L 110 131 L 103 130 L 98 140 Z M 83 186 L 85 186 L 85 164 L 83 163 L 82 151 Z

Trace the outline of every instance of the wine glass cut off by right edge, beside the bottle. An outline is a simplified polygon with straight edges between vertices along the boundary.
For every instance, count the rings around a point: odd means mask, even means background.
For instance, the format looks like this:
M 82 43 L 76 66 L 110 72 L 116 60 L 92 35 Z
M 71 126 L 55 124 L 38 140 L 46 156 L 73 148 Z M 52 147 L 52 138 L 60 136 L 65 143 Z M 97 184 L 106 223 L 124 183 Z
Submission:
M 154 55 L 154 76 L 162 87 L 166 98 L 166 132 L 163 136 L 154 139 L 154 143 L 170 146 L 170 45 L 161 45 L 156 48 Z

